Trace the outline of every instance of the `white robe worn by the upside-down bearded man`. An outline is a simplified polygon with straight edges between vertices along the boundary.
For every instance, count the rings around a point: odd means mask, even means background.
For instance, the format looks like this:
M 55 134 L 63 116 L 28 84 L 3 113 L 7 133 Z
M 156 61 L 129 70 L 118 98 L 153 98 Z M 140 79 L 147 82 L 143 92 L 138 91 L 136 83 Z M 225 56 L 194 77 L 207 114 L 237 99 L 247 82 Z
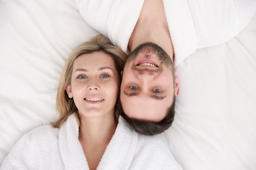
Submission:
M 127 52 L 143 0 L 76 0 L 85 21 Z M 255 0 L 163 0 L 175 66 L 196 49 L 229 41 L 249 23 Z

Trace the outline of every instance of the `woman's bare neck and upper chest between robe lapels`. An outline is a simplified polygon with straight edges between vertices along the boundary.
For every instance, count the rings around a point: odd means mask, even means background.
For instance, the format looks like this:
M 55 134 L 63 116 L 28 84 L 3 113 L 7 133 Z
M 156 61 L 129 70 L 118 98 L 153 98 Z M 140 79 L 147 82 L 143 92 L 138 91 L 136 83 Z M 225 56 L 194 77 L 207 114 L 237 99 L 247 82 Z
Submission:
M 97 118 L 80 116 L 80 122 L 79 141 L 89 169 L 96 169 L 116 131 L 117 124 L 114 120 L 114 113 Z

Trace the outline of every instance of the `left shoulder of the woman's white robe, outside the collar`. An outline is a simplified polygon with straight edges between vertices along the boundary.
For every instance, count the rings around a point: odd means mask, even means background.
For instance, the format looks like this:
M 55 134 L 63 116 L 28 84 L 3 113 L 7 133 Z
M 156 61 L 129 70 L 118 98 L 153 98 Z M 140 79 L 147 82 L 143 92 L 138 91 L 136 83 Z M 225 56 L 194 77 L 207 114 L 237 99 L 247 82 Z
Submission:
M 44 125 L 23 135 L 12 147 L 1 168 L 36 169 L 36 167 L 43 166 L 43 163 L 57 158 L 59 158 L 58 129 Z

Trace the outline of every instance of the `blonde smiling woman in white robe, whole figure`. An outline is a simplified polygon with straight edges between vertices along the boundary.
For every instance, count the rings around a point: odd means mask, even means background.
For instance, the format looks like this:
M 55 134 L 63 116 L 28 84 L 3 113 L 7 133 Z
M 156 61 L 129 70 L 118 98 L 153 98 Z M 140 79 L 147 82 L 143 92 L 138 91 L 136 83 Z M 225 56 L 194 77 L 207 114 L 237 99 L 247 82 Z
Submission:
M 161 139 L 119 117 L 126 57 L 102 35 L 75 49 L 60 78 L 60 119 L 24 135 L 1 169 L 181 169 Z

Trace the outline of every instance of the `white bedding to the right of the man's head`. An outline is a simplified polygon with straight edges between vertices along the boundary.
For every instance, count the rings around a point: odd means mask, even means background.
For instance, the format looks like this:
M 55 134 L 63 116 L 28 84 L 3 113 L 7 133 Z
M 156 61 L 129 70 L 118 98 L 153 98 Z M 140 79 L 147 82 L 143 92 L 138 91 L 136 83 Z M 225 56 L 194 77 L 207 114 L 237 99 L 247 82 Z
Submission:
M 256 15 L 234 39 L 177 67 L 175 122 L 161 136 L 184 169 L 256 169 Z

